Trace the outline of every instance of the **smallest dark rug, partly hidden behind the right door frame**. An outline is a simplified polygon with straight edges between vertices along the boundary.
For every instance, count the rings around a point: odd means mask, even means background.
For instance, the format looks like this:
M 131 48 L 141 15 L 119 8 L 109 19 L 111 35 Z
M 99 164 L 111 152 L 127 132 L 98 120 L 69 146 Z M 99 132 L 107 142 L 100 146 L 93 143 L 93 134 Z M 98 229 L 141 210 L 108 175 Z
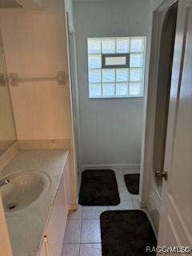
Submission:
M 130 194 L 138 194 L 139 190 L 139 178 L 140 174 L 126 174 L 124 179 L 126 182 L 126 188 Z

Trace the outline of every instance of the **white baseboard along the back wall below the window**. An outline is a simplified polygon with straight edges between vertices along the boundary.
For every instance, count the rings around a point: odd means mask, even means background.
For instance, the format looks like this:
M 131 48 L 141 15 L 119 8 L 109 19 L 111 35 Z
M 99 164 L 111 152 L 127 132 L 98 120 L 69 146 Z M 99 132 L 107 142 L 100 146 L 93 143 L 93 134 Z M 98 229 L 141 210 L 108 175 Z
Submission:
M 130 174 L 138 174 L 140 172 L 140 164 L 104 164 L 104 165 L 83 165 L 80 172 L 83 170 L 102 170 L 112 169 L 116 171 L 126 170 Z

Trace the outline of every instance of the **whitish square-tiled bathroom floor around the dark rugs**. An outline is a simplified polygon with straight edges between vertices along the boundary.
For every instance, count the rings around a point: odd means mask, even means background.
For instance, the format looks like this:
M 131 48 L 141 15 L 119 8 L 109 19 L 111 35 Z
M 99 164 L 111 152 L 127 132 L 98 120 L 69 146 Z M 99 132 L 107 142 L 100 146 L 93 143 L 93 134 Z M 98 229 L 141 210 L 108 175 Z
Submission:
M 121 203 L 118 206 L 78 205 L 77 211 L 70 211 L 62 256 L 102 256 L 100 214 L 106 210 L 139 209 L 138 196 L 130 194 L 126 189 L 123 178 L 126 173 L 126 170 L 115 170 L 121 198 Z

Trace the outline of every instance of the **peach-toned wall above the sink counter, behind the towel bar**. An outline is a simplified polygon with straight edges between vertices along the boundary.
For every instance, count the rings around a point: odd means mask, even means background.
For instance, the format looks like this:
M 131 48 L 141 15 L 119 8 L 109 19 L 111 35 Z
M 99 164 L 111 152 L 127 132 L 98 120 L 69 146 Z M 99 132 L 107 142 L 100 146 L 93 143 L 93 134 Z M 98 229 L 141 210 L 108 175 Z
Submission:
M 66 70 L 63 0 L 44 0 L 42 11 L 0 10 L 8 72 L 54 77 Z M 57 82 L 11 87 L 18 139 L 70 138 L 69 88 Z

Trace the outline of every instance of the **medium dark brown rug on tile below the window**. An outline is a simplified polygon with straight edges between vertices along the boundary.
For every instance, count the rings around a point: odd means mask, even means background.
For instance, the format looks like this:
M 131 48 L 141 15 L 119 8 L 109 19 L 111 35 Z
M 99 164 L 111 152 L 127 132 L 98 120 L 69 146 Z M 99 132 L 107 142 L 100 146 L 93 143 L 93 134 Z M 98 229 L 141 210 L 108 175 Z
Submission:
M 114 170 L 84 170 L 78 203 L 82 206 L 117 206 L 120 202 Z

